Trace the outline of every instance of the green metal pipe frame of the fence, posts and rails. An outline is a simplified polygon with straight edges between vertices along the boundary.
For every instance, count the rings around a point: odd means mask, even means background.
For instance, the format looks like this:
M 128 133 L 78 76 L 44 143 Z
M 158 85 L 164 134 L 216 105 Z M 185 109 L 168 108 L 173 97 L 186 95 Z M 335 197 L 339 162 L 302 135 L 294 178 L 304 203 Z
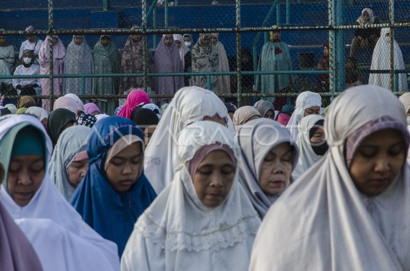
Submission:
M 290 0 L 284 0 L 286 3 L 286 24 L 290 23 Z M 296 96 L 298 93 L 241 93 L 241 75 L 258 75 L 258 74 L 325 74 L 329 73 L 330 77 L 330 90 L 331 92 L 320 93 L 322 96 L 335 96 L 340 94 L 345 89 L 345 74 L 344 74 L 344 32 L 343 30 L 347 29 L 362 29 L 362 28 L 382 28 L 388 27 L 391 28 L 391 31 L 394 33 L 395 28 L 402 28 L 402 27 L 410 27 L 409 23 L 395 23 L 394 22 L 394 0 L 389 0 L 389 20 L 388 23 L 385 24 L 377 24 L 377 25 L 370 25 L 370 26 L 357 26 L 351 25 L 346 26 L 344 25 L 344 0 L 329 0 L 329 25 L 327 26 L 281 26 L 280 22 L 280 12 L 279 12 L 279 5 L 280 0 L 275 0 L 271 6 L 270 11 L 267 14 L 263 24 L 261 27 L 241 27 L 240 25 L 240 0 L 235 0 L 235 7 L 236 7 L 236 27 L 235 28 L 195 28 L 195 29 L 170 29 L 168 28 L 168 16 L 169 16 L 169 1 L 165 0 L 165 28 L 156 28 L 157 27 L 157 14 L 156 14 L 156 2 L 157 0 L 153 0 L 151 3 L 150 8 L 147 11 L 147 0 L 141 1 L 142 7 L 142 23 L 139 29 L 70 29 L 70 30 L 62 30 L 62 29 L 54 29 L 53 28 L 53 0 L 49 0 L 48 9 L 49 9 L 49 28 L 48 30 L 36 30 L 33 32 L 35 35 L 50 35 L 50 74 L 49 75 L 0 75 L 0 78 L 49 78 L 50 79 L 50 96 L 36 96 L 38 98 L 49 98 L 50 104 L 53 105 L 54 98 L 58 97 L 55 96 L 53 93 L 54 86 L 53 86 L 53 79 L 54 78 L 81 78 L 82 81 L 82 89 L 81 93 L 85 94 L 85 78 L 88 77 L 144 77 L 144 88 L 147 89 L 147 80 L 149 77 L 155 76 L 207 76 L 208 78 L 208 89 L 210 88 L 210 77 L 215 75 L 236 75 L 237 81 L 237 93 L 236 94 L 223 94 L 219 95 L 220 97 L 236 97 L 238 105 L 240 105 L 241 97 L 283 97 L 283 96 Z M 299 2 L 298 2 L 299 3 Z M 176 2 L 176 5 L 178 3 Z M 349 2 L 349 5 L 352 3 Z M 254 61 L 256 61 L 257 53 L 256 46 L 262 33 L 264 34 L 264 39 L 266 41 L 267 36 L 270 31 L 272 31 L 271 27 L 268 27 L 268 23 L 270 18 L 272 17 L 274 10 L 276 8 L 276 22 L 278 25 L 277 30 L 280 31 L 301 31 L 301 30 L 327 30 L 329 31 L 329 57 L 330 57 L 330 68 L 329 71 L 318 71 L 318 70 L 294 70 L 294 71 L 271 71 L 271 72 L 243 72 L 241 71 L 241 56 L 240 56 L 240 49 L 241 49 L 241 42 L 240 37 L 241 33 L 247 32 L 258 32 L 257 37 L 255 38 L 252 46 L 253 46 L 253 53 L 254 53 Z M 103 0 L 103 10 L 109 10 L 109 0 Z M 153 14 L 153 29 L 147 27 L 147 21 L 149 16 Z M 175 33 L 213 33 L 213 32 L 221 32 L 221 33 L 236 33 L 236 49 L 237 49 L 237 57 L 236 57 L 236 64 L 237 69 L 234 72 L 202 72 L 202 73 L 148 73 L 147 72 L 147 35 L 154 35 L 154 45 L 156 44 L 156 37 L 155 34 L 175 34 Z M 26 33 L 24 30 L 17 30 L 17 31 L 3 31 L 1 32 L 2 35 L 21 35 L 24 36 Z M 144 43 L 144 70 L 141 74 L 58 74 L 54 75 L 53 73 L 53 47 L 51 44 L 52 36 L 53 35 L 75 35 L 75 34 L 88 34 L 88 35 L 101 35 L 101 34 L 141 34 L 143 43 Z M 393 40 L 394 35 L 390 35 L 391 37 L 391 50 L 390 50 L 390 69 L 385 71 L 366 71 L 367 73 L 388 73 L 390 74 L 390 86 L 391 90 L 395 91 L 396 94 L 401 94 L 398 92 L 398 74 L 400 73 L 409 73 L 410 69 L 406 70 L 394 70 L 394 53 L 393 53 Z M 254 62 L 256 65 L 256 62 Z M 256 69 L 255 69 L 256 70 Z M 19 96 L 9 96 L 9 98 L 16 98 Z M 80 95 L 80 98 L 98 98 L 102 97 L 102 95 Z M 126 95 L 104 95 L 106 98 L 125 98 Z M 153 98 L 160 98 L 160 97 L 172 97 L 172 95 L 152 95 Z

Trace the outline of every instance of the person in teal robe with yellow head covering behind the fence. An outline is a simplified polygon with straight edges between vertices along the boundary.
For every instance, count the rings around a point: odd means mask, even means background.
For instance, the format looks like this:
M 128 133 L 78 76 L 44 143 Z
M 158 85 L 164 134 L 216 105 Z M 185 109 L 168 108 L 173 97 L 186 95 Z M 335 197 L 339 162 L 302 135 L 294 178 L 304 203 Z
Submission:
M 272 26 L 276 29 L 277 26 Z M 258 71 L 292 71 L 289 47 L 280 40 L 280 31 L 270 32 L 271 38 L 263 45 L 259 57 Z M 278 93 L 292 83 L 292 74 L 269 74 L 256 76 L 255 90 L 260 93 Z M 274 101 L 274 97 L 265 98 Z

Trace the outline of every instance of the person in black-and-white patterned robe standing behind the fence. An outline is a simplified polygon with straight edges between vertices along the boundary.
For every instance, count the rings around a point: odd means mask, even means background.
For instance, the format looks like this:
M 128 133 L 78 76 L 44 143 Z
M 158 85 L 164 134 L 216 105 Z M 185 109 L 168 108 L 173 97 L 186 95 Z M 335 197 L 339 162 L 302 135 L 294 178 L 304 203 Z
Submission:
M 192 50 L 192 71 L 193 72 L 217 72 L 219 71 L 218 48 L 211 43 L 211 34 L 202 33 L 198 42 Z M 207 89 L 208 76 L 193 76 L 192 85 Z M 211 89 L 214 93 L 219 93 L 218 76 L 211 76 Z

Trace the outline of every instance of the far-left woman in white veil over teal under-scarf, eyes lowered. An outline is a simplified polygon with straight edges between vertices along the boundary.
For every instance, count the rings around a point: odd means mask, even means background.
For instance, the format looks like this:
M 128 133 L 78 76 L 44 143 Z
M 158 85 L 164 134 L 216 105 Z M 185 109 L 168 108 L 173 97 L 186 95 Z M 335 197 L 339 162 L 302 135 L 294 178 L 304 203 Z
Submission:
M 0 201 L 36 251 L 50 252 L 48 255 L 42 254 L 46 261 L 39 255 L 42 263 L 51 264 L 45 269 L 76 271 L 93 266 L 98 270 L 118 270 L 116 244 L 98 235 L 84 222 L 50 180 L 47 164 L 51 158 L 52 143 L 43 124 L 30 115 L 9 114 L 1 117 L 0 150 L 0 162 L 6 170 L 0 185 Z M 34 224 L 30 225 L 28 220 Z M 36 233 L 34 228 L 40 232 Z M 54 230 L 44 233 L 42 229 Z M 64 241 L 59 251 L 67 254 L 53 251 L 47 247 L 48 241 L 42 240 L 47 236 L 52 238 L 53 235 L 56 242 Z M 74 251 L 77 246 L 81 249 L 72 252 L 65 244 L 71 244 Z M 87 259 L 77 257 L 79 251 L 89 251 L 82 255 Z M 57 265 L 53 265 L 53 262 Z M 90 265 L 92 262 L 94 264 Z

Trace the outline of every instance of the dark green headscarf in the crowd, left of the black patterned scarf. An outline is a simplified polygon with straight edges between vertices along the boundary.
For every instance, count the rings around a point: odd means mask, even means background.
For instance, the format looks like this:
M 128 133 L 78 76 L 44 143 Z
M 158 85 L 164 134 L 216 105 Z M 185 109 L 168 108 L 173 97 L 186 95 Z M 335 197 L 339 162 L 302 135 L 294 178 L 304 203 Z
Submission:
M 47 131 L 53 146 L 57 144 L 58 137 L 63 132 L 64 126 L 70 121 L 75 123 L 75 114 L 68 109 L 58 108 L 50 113 L 47 119 Z

